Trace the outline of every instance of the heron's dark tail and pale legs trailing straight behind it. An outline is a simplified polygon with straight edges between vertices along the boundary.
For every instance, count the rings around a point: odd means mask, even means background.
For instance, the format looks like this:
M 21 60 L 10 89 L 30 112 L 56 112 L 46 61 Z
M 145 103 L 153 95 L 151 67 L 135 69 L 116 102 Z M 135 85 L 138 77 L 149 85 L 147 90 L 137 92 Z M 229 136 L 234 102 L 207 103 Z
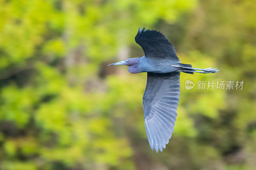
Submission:
M 179 63 L 179 65 L 172 65 L 173 67 L 178 67 L 179 71 L 182 71 L 184 73 L 188 74 L 194 74 L 194 73 L 217 73 L 219 70 L 213 69 L 213 68 L 207 68 L 207 69 L 199 69 L 199 68 L 193 68 L 190 64 L 183 64 Z M 197 71 L 199 70 L 199 71 Z

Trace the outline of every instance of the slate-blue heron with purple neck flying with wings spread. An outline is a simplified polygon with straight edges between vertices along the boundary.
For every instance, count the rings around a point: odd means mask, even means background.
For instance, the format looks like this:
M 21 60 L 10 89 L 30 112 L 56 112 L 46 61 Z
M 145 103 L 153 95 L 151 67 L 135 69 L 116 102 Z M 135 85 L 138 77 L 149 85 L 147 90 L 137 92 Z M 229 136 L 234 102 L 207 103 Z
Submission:
M 143 95 L 144 122 L 149 145 L 162 152 L 172 137 L 180 98 L 180 72 L 216 73 L 213 68 L 193 68 L 180 63 L 174 46 L 156 30 L 139 28 L 135 41 L 144 51 L 143 57 L 109 65 L 127 65 L 130 73 L 148 72 Z

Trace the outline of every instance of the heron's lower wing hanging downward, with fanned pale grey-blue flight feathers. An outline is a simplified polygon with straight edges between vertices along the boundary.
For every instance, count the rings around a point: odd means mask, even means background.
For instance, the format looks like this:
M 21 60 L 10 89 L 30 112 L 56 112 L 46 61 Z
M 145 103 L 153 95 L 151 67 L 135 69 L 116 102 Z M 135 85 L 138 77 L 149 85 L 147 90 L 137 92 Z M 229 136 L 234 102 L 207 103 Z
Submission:
M 143 95 L 144 121 L 152 151 L 162 152 L 172 137 L 180 98 L 180 72 L 148 72 Z

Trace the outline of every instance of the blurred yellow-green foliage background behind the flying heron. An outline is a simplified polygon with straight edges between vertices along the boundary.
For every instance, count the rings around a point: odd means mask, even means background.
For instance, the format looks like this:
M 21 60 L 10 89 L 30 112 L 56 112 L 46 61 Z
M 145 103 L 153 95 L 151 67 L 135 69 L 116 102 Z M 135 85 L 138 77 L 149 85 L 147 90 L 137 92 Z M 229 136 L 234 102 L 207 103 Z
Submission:
M 255 0 L 0 0 L 0 169 L 256 169 Z M 174 133 L 152 152 L 139 26 L 182 63 Z M 244 81 L 242 90 L 185 81 Z

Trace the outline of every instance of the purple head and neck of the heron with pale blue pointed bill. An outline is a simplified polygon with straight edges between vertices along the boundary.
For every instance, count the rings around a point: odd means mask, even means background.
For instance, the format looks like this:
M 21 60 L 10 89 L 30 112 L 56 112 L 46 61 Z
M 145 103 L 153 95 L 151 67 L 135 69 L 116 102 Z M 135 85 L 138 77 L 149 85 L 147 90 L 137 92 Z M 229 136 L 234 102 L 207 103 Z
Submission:
M 109 64 L 109 65 L 127 65 L 127 66 L 129 66 L 128 71 L 130 73 L 140 73 L 141 72 L 140 67 L 139 67 L 140 58 L 141 57 L 128 58 L 124 61 L 117 62 L 117 63 L 112 63 L 112 64 Z

